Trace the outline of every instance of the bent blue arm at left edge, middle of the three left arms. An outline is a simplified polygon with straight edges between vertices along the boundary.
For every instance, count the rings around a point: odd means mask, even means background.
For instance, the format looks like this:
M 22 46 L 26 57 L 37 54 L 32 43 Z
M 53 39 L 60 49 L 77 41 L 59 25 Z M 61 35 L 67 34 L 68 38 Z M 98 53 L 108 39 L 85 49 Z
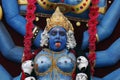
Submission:
M 0 51 L 5 58 L 14 62 L 21 62 L 23 48 L 15 46 L 2 22 L 0 22 Z

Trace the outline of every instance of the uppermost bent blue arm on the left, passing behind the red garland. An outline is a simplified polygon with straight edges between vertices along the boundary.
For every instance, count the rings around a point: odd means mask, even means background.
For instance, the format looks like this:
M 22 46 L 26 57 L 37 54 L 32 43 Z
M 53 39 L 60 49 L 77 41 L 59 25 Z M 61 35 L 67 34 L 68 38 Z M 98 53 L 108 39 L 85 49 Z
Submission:
M 20 15 L 20 10 L 17 0 L 2 0 L 2 7 L 7 23 L 23 36 L 26 33 L 26 19 Z M 40 46 L 40 35 L 42 30 L 39 31 L 37 38 L 34 40 L 34 44 Z

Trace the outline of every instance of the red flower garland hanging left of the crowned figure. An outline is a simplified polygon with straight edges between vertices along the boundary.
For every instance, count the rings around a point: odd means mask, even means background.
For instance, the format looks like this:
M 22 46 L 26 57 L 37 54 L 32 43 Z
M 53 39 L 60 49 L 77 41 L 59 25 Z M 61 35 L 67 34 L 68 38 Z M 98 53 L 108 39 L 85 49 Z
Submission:
M 26 13 L 26 35 L 24 37 L 24 53 L 23 53 L 23 59 L 22 61 L 30 60 L 33 58 L 33 56 L 36 54 L 32 54 L 31 52 L 31 45 L 32 45 L 32 37 L 33 37 L 33 21 L 35 20 L 35 10 L 36 10 L 36 0 L 27 0 L 28 5 L 27 5 L 27 13 Z M 25 79 L 25 73 L 22 71 L 22 76 L 21 80 Z

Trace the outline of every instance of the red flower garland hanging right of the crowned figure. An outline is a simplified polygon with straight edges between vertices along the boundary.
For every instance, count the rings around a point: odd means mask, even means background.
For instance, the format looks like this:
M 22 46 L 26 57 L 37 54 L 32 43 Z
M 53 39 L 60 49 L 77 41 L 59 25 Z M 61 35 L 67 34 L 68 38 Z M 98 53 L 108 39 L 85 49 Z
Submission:
M 96 26 L 98 24 L 98 16 L 99 16 L 99 7 L 97 6 L 99 3 L 99 0 L 92 0 L 92 6 L 90 7 L 90 13 L 89 13 L 89 18 L 90 20 L 88 21 L 88 33 L 89 33 L 89 62 L 91 66 L 91 73 L 94 75 L 94 66 L 95 66 L 95 60 L 96 60 L 96 33 L 97 29 Z

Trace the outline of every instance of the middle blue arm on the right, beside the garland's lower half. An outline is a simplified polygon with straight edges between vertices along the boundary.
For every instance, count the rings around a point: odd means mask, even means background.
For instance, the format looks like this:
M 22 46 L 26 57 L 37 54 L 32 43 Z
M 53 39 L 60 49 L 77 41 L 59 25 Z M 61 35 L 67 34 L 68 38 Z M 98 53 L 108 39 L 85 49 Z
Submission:
M 117 39 L 108 49 L 96 53 L 95 67 L 111 66 L 120 60 L 120 38 Z

